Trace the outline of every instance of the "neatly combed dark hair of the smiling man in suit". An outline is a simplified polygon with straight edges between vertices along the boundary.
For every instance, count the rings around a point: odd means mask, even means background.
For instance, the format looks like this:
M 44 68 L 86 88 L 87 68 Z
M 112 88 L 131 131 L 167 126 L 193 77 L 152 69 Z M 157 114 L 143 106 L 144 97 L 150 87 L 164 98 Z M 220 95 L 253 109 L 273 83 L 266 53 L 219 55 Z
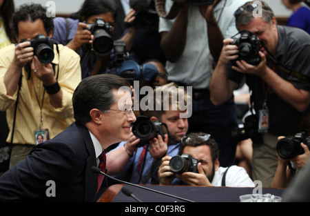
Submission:
M 102 112 L 114 104 L 113 90 L 123 86 L 130 88 L 127 79 L 110 74 L 94 75 L 83 79 L 76 87 L 72 97 L 74 118 L 85 125 L 90 119 L 90 110 L 97 108 Z

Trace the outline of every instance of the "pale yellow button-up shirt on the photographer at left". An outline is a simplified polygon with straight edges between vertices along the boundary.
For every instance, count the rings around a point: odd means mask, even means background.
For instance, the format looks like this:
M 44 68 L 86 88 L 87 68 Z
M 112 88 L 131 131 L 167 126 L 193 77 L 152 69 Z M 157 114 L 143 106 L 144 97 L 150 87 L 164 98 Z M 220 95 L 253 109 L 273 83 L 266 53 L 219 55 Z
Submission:
M 15 102 L 17 100 L 17 92 L 10 97 L 6 94 L 6 86 L 3 77 L 14 58 L 14 44 L 0 50 L 0 110 L 7 111 L 8 126 L 10 133 L 7 141 L 10 142 L 12 132 L 12 122 L 14 119 Z M 65 130 L 74 121 L 72 95 L 74 89 L 81 81 L 81 66 L 79 55 L 66 46 L 59 45 L 59 55 L 54 45 L 55 57 L 52 63 L 55 64 L 55 76 L 59 66 L 58 82 L 63 91 L 63 99 L 61 108 L 54 108 L 50 104 L 48 93 L 44 93 L 44 101 L 42 108 L 43 126 L 47 128 L 50 139 L 59 132 Z M 27 79 L 25 68 L 22 71 L 22 84 L 19 92 L 19 101 L 17 106 L 17 117 L 15 120 L 13 144 L 35 144 L 34 130 L 38 130 L 41 122 L 41 114 L 39 103 L 42 104 L 43 99 L 43 82 L 30 72 L 31 78 Z M 36 94 L 37 92 L 37 100 Z

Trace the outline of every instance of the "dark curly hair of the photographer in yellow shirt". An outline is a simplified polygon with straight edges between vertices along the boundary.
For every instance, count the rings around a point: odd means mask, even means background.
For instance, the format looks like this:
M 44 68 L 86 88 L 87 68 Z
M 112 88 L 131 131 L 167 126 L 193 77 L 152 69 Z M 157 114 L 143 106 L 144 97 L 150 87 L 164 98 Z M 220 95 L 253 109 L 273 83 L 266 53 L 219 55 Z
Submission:
M 54 30 L 53 18 L 46 16 L 46 10 L 47 9 L 39 3 L 24 3 L 19 6 L 12 17 L 15 35 L 17 37 L 19 36 L 20 21 L 34 22 L 41 19 L 43 21 L 44 30 L 47 34 L 49 34 L 51 30 Z

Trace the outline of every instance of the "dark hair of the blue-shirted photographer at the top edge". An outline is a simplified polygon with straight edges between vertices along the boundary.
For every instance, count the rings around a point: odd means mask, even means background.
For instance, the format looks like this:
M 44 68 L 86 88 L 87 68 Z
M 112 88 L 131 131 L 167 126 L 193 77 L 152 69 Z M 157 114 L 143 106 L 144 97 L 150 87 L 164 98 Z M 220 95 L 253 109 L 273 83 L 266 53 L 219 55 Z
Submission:
M 118 13 L 118 6 L 114 0 L 85 0 L 81 9 L 78 12 L 70 14 L 70 18 L 79 19 L 79 21 L 85 21 L 88 17 L 93 15 L 105 14 L 111 12 L 114 19 Z M 82 17 L 84 20 L 82 20 Z

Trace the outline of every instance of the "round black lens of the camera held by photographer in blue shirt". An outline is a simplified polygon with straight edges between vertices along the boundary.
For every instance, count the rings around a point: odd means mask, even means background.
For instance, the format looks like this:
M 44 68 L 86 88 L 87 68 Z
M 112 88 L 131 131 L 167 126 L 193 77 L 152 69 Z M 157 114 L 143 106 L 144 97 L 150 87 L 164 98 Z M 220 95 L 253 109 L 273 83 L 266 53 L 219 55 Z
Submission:
M 110 55 L 113 48 L 113 40 L 105 30 L 99 28 L 94 32 L 92 47 L 99 56 L 104 57 Z

